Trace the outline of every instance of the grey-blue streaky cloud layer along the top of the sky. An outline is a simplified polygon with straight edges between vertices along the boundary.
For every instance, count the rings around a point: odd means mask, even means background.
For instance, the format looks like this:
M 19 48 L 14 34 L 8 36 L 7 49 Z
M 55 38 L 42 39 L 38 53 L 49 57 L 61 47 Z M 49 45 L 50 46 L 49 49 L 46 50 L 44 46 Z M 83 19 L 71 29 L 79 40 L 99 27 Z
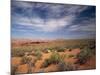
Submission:
M 62 5 L 50 3 L 36 3 L 36 2 L 12 2 L 12 12 L 19 15 L 26 15 L 30 17 L 44 15 L 46 18 L 60 18 L 68 15 L 77 15 L 87 9 L 88 6 L 82 5 Z M 14 10 L 15 9 L 15 10 Z M 19 10 L 18 10 L 19 9 Z M 19 13 L 22 11 L 22 14 Z M 42 17 L 42 18 L 44 18 Z

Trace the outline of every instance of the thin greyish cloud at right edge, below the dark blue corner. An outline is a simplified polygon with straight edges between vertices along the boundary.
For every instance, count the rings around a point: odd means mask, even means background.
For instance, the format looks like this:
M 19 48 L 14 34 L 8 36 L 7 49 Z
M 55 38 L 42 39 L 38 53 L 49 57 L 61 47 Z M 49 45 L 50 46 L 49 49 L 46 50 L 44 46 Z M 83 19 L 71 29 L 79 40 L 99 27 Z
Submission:
M 82 20 L 77 25 L 69 26 L 68 30 L 69 31 L 90 31 L 90 32 L 95 32 L 96 31 L 95 18 L 89 18 L 88 20 Z

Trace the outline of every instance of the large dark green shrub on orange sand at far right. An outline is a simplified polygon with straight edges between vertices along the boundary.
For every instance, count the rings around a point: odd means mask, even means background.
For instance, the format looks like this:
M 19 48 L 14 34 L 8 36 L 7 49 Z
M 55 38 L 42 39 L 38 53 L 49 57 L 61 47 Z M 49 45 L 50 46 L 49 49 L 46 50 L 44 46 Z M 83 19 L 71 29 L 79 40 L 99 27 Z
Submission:
M 93 54 L 93 50 L 89 48 L 84 48 L 81 52 L 76 56 L 78 59 L 77 63 L 84 64 Z

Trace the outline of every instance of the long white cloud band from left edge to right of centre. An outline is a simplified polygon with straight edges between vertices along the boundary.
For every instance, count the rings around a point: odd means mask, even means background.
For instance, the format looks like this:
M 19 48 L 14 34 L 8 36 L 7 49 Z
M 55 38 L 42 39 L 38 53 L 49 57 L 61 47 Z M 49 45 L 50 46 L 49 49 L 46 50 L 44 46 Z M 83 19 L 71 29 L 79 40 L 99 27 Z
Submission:
M 12 18 L 13 24 L 31 26 L 36 28 L 37 31 L 53 32 L 61 29 L 73 21 L 74 16 L 66 16 L 59 19 L 41 19 L 41 18 L 28 18 L 28 17 L 14 17 Z

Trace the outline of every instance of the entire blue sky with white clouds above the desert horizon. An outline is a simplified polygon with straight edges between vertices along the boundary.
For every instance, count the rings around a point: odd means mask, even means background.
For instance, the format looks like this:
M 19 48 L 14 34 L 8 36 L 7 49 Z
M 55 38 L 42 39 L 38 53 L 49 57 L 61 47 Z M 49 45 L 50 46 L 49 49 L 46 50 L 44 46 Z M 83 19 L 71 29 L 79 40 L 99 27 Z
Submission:
M 96 7 L 12 1 L 12 38 L 84 39 L 96 36 Z

